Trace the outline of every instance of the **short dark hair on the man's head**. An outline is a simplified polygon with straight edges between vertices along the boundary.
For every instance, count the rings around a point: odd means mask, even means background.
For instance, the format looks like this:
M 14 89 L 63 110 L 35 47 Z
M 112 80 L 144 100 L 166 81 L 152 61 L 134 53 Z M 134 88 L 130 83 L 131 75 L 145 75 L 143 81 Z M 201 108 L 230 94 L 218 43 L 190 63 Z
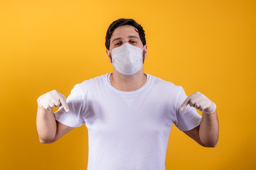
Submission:
M 132 19 L 118 19 L 115 20 L 114 22 L 112 22 L 112 24 L 110 24 L 110 26 L 108 27 L 108 31 L 106 34 L 106 42 L 105 42 L 105 46 L 106 48 L 109 50 L 110 47 L 110 38 L 112 37 L 113 32 L 115 31 L 115 29 L 119 26 L 123 26 L 123 25 L 131 25 L 135 27 L 135 31 L 137 33 L 139 33 L 139 38 L 142 42 L 143 45 L 146 45 L 146 38 L 145 38 L 145 31 L 142 28 L 142 26 L 140 24 L 138 24 L 135 20 Z

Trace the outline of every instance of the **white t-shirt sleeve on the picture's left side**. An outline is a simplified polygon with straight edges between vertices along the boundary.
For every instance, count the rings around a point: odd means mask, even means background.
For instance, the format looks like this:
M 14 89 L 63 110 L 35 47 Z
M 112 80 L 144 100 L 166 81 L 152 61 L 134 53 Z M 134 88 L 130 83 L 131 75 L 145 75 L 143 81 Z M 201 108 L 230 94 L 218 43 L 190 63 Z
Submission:
M 81 88 L 79 84 L 76 84 L 67 97 L 67 105 L 70 108 L 70 112 L 66 113 L 61 106 L 58 111 L 54 113 L 55 119 L 70 127 L 82 126 L 85 123 L 82 114 L 84 110 L 83 101 L 85 100 Z

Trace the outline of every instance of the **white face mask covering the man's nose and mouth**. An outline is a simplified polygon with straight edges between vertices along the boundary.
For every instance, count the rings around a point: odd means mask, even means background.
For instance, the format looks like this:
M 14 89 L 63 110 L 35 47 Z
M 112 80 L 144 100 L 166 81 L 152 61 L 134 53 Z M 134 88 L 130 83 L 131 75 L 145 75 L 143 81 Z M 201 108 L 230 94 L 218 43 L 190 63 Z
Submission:
M 144 48 L 143 48 L 144 49 Z M 139 47 L 129 43 L 110 51 L 112 53 L 112 64 L 115 69 L 124 75 L 132 75 L 137 73 L 142 65 L 142 51 Z

